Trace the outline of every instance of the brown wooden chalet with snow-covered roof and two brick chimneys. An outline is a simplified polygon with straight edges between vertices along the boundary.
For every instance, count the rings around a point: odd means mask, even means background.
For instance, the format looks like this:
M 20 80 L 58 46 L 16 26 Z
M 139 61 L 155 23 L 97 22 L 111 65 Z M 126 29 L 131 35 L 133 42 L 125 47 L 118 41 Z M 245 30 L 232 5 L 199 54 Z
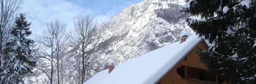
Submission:
M 109 62 L 103 70 L 84 84 L 228 84 L 209 73 L 196 53 L 209 46 L 197 35 L 186 31 L 181 40 L 119 65 Z

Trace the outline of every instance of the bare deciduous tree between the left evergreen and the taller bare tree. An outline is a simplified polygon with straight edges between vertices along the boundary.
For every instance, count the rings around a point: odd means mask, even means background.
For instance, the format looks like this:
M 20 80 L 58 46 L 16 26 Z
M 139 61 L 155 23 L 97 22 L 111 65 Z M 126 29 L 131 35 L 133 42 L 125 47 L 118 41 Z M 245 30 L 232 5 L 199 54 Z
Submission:
M 66 25 L 60 22 L 59 19 L 55 21 L 50 21 L 46 25 L 46 30 L 42 36 L 37 38 L 37 43 L 39 46 L 39 56 L 38 58 L 45 58 L 51 63 L 50 75 L 48 74 L 47 67 L 41 66 L 41 68 L 37 68 L 44 72 L 50 80 L 50 84 L 53 83 L 53 73 L 54 73 L 54 66 L 57 67 L 57 78 L 58 84 L 59 81 L 59 56 L 61 52 L 61 48 L 64 45 L 65 38 L 65 28 Z M 48 53 L 48 49 L 50 49 L 50 54 Z M 56 56 L 56 57 L 55 57 Z M 57 60 L 57 64 L 55 63 L 55 59 Z M 44 69 L 42 69 L 44 68 Z

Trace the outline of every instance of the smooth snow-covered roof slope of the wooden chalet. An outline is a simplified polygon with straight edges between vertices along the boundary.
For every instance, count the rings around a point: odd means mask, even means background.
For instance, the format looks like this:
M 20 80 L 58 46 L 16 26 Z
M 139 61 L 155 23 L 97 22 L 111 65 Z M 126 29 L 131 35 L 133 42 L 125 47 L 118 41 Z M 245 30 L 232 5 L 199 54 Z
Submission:
M 201 38 L 191 35 L 183 43 L 175 42 L 95 74 L 84 84 L 153 84 L 186 55 Z

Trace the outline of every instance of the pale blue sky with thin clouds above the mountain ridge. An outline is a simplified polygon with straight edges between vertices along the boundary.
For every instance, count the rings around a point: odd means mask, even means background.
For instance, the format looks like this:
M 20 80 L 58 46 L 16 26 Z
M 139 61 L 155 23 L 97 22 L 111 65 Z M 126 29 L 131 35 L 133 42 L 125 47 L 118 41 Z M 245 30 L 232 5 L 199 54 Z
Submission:
M 19 12 L 28 15 L 33 35 L 41 34 L 45 24 L 56 18 L 63 20 L 68 29 L 80 14 L 91 14 L 99 23 L 110 20 L 122 9 L 142 0 L 25 0 Z

